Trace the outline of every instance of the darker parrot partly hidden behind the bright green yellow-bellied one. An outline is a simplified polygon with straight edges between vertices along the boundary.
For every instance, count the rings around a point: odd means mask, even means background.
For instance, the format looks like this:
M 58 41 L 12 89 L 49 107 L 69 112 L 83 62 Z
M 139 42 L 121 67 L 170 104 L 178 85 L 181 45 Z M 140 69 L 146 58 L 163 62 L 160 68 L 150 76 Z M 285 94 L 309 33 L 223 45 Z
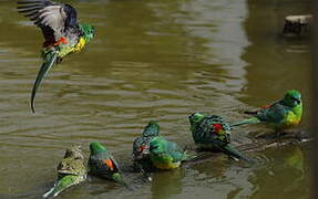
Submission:
M 151 121 L 145 127 L 142 135 L 135 138 L 133 144 L 134 167 L 140 169 L 143 175 L 151 181 L 152 178 L 147 171 L 154 166 L 150 159 L 150 142 L 160 135 L 160 126 L 155 121 Z

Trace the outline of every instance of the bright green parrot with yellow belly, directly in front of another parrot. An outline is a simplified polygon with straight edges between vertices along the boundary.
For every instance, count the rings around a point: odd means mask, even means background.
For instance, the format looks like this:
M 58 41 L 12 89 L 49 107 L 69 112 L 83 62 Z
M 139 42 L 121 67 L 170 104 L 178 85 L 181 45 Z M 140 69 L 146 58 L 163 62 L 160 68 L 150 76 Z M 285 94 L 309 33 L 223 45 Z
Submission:
M 182 161 L 193 158 L 175 143 L 168 142 L 161 136 L 153 138 L 150 143 L 150 159 L 157 169 L 175 169 L 181 166 Z

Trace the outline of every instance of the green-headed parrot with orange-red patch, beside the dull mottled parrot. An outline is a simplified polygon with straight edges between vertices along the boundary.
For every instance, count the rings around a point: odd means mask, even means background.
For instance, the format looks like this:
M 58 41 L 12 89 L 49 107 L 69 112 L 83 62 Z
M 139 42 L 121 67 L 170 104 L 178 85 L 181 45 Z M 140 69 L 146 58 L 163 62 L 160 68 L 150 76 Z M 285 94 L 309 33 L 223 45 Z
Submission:
M 111 153 L 99 142 L 91 143 L 90 149 L 90 174 L 126 186 L 120 166 Z

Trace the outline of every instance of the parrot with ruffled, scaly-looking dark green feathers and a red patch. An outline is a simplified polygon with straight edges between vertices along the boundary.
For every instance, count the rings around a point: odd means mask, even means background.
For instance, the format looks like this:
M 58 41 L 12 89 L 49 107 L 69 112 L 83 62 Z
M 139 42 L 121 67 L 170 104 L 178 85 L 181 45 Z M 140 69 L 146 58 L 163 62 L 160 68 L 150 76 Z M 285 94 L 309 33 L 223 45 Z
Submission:
M 217 115 L 194 113 L 188 116 L 191 132 L 201 148 L 219 150 L 234 159 L 252 160 L 230 145 L 230 127 Z

